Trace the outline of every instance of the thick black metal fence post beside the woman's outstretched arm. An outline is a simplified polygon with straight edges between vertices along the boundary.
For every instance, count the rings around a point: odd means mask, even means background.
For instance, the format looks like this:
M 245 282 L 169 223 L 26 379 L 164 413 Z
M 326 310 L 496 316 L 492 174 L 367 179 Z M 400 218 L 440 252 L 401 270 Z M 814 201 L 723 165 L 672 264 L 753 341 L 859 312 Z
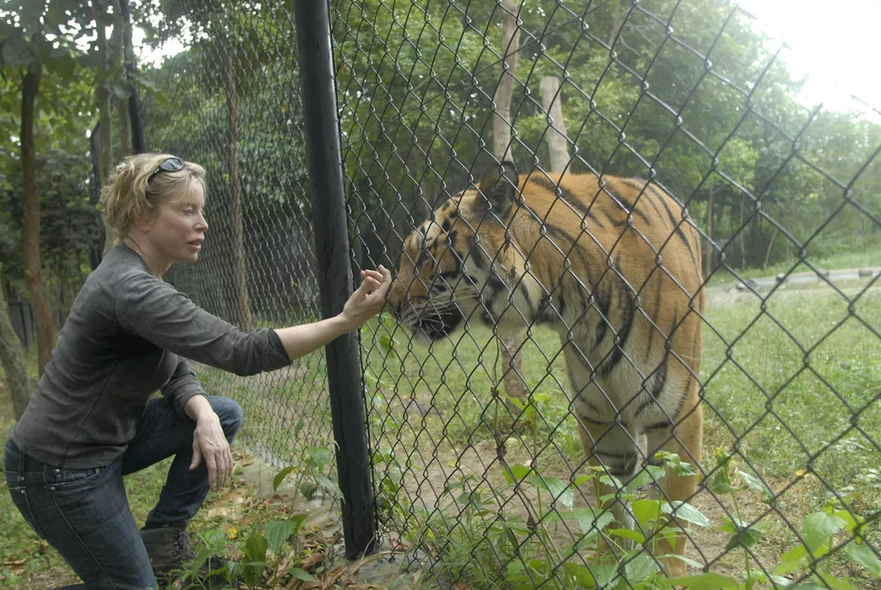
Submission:
M 330 317 L 342 311 L 352 293 L 352 268 L 329 9 L 325 2 L 315 0 L 296 0 L 293 7 L 318 286 L 322 315 Z M 340 336 L 325 350 L 337 472 L 343 492 L 345 554 L 353 559 L 371 553 L 376 538 L 357 335 Z

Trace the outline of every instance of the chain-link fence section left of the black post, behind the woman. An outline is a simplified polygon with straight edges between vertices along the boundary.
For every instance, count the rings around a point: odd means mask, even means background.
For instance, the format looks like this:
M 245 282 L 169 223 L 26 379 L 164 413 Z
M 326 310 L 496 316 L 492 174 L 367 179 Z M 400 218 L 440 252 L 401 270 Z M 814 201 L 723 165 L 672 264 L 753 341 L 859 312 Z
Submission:
M 163 9 L 159 34 L 183 49 L 151 72 L 161 95 L 145 97 L 146 141 L 204 166 L 209 224 L 199 262 L 167 280 L 240 328 L 320 319 L 292 14 L 219 1 Z M 323 350 L 254 377 L 196 369 L 206 391 L 241 403 L 241 437 L 264 461 L 332 472 Z M 329 492 L 315 481 L 300 490 Z

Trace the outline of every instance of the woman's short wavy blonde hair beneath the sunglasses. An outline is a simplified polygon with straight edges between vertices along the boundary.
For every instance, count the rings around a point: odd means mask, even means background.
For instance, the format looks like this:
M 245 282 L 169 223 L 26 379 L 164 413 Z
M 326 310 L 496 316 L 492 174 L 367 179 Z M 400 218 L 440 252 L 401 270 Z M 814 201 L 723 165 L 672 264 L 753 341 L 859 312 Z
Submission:
M 167 197 L 189 191 L 196 183 L 205 190 L 204 167 L 183 159 L 181 170 L 163 170 L 147 182 L 167 158 L 174 155 L 154 152 L 129 156 L 116 166 L 115 173 L 101 188 L 98 210 L 113 231 L 115 243 L 125 238 L 135 219 L 150 218 Z

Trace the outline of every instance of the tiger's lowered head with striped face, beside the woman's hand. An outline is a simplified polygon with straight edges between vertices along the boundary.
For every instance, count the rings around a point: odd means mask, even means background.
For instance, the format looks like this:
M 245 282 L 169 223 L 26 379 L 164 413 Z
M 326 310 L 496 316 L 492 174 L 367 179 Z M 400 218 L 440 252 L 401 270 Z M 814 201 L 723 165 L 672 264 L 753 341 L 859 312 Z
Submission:
M 466 318 L 497 321 L 493 301 L 507 299 L 506 224 L 518 202 L 514 164 L 491 166 L 434 210 L 403 241 L 389 291 L 395 319 L 429 342 L 451 334 Z

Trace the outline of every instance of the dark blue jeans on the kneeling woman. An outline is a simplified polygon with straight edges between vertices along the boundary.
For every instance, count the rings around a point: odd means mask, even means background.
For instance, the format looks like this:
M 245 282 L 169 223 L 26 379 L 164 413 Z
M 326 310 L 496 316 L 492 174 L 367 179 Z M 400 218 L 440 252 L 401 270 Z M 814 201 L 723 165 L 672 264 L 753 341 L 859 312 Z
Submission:
M 241 427 L 239 404 L 214 395 L 208 399 L 232 443 Z M 156 587 L 122 476 L 174 455 L 159 502 L 144 527 L 192 518 L 209 491 L 205 462 L 189 470 L 195 427 L 195 422 L 178 414 L 164 399 L 153 398 L 125 453 L 106 467 L 87 469 L 47 465 L 21 452 L 11 439 L 7 441 L 4 467 L 12 500 L 37 535 L 55 547 L 85 582 L 65 587 Z

